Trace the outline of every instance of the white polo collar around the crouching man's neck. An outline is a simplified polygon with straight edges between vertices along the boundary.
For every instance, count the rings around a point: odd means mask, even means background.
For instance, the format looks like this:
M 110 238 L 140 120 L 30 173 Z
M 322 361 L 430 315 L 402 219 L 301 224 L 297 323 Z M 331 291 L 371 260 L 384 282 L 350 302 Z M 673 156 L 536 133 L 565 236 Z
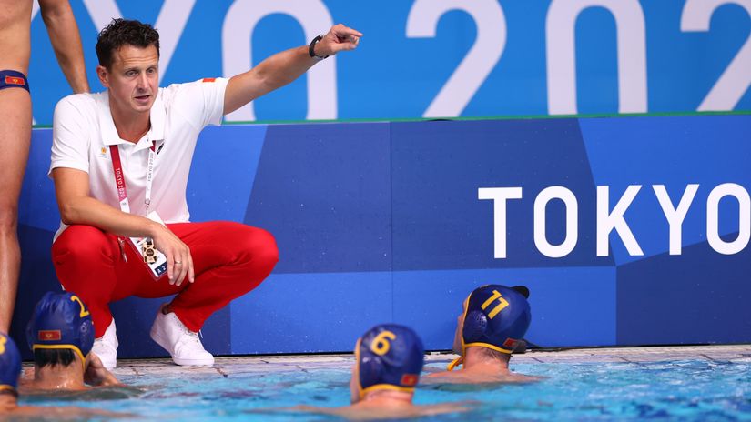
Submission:
M 151 128 L 148 129 L 146 136 L 141 138 L 136 144 L 136 151 L 140 149 L 146 149 L 153 145 L 164 141 L 164 126 L 167 119 L 167 110 L 162 101 L 161 89 L 157 92 L 157 98 L 154 100 L 154 104 L 151 106 L 149 118 L 151 121 Z M 117 128 L 115 127 L 115 121 L 112 120 L 112 112 L 109 109 L 109 91 L 105 91 L 98 98 L 98 106 L 96 107 L 99 117 L 99 130 L 102 134 L 102 142 L 106 146 L 128 144 L 128 141 L 120 139 L 117 135 Z

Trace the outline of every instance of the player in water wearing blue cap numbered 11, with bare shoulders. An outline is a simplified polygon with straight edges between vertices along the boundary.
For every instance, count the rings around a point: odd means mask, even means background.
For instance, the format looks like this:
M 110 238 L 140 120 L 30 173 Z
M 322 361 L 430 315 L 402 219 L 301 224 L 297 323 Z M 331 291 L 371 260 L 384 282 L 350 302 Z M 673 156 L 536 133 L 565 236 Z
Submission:
M 509 370 L 513 349 L 529 328 L 529 289 L 488 285 L 474 289 L 457 318 L 454 359 L 446 371 L 423 377 L 424 384 L 518 383 L 539 380 Z M 461 370 L 453 371 L 462 366 Z

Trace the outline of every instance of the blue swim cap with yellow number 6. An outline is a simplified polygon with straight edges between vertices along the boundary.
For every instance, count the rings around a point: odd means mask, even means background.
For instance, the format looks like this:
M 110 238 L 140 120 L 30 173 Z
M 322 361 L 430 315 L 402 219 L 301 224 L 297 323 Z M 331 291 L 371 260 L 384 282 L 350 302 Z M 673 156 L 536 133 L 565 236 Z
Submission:
M 360 398 L 370 391 L 414 391 L 425 357 L 420 337 L 409 327 L 381 324 L 357 341 L 355 359 Z

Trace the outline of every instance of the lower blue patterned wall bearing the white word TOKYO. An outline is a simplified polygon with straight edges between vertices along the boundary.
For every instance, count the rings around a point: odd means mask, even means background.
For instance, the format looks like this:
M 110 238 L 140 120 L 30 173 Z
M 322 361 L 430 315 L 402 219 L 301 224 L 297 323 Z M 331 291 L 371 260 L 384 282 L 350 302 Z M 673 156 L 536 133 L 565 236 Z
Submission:
M 394 321 L 415 327 L 427 348 L 447 349 L 462 299 L 500 283 L 530 286 L 527 337 L 541 346 L 751 342 L 748 247 L 717 252 L 706 224 L 716 186 L 736 184 L 746 196 L 751 188 L 749 133 L 751 116 L 209 127 L 188 186 L 193 220 L 267 228 L 280 261 L 208 320 L 204 341 L 218 354 L 349 351 L 368 327 Z M 50 143 L 50 130 L 34 131 L 16 340 L 36 300 L 59 288 Z M 664 185 L 676 206 L 688 184 L 699 186 L 680 255 L 670 255 L 652 186 Z M 614 230 L 598 256 L 597 186 L 609 189 L 611 212 L 634 185 L 642 187 L 624 221 L 644 255 Z M 523 197 L 507 202 L 506 257 L 496 258 L 494 203 L 478 189 L 514 186 Z M 578 205 L 578 241 L 557 258 L 534 241 L 535 198 L 549 186 L 567 188 Z M 725 196 L 716 206 L 724 242 L 751 224 L 738 204 Z M 566 208 L 553 200 L 545 209 L 545 237 L 561 244 L 572 235 Z M 120 356 L 164 355 L 147 334 L 159 303 L 113 306 Z

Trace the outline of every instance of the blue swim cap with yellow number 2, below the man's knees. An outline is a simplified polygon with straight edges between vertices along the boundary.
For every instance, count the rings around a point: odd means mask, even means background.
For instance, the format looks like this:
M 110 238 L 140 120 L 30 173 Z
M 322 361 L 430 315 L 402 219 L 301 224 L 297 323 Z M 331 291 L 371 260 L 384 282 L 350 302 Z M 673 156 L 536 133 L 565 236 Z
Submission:
M 94 324 L 78 296 L 47 292 L 26 326 L 26 341 L 32 350 L 71 349 L 83 363 L 94 346 Z

